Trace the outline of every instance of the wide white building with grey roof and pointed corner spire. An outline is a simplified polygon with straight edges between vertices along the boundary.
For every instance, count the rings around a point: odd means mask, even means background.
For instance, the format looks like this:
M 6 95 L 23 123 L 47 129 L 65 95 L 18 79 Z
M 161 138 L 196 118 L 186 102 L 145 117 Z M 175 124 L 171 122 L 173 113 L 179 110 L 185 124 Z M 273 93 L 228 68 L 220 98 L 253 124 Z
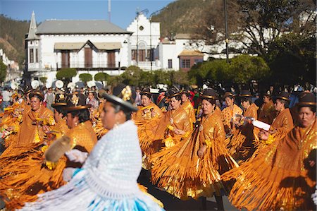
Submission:
M 80 73 L 120 75 L 131 65 L 131 34 L 106 20 L 45 20 L 37 27 L 32 13 L 25 78 L 45 76 L 51 86 L 61 68 L 77 69 L 73 83 Z

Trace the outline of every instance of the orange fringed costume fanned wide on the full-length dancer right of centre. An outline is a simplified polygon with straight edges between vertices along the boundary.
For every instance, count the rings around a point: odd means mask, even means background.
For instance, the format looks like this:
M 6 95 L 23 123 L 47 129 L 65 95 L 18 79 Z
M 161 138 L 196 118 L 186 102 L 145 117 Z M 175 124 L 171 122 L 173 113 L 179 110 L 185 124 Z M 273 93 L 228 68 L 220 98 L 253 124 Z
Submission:
M 220 110 L 203 117 L 191 136 L 173 147 L 164 147 L 151 157 L 151 179 L 178 198 L 211 197 L 220 194 L 220 172 L 232 169 L 235 161 L 225 148 L 225 131 Z M 199 147 L 206 145 L 204 157 Z

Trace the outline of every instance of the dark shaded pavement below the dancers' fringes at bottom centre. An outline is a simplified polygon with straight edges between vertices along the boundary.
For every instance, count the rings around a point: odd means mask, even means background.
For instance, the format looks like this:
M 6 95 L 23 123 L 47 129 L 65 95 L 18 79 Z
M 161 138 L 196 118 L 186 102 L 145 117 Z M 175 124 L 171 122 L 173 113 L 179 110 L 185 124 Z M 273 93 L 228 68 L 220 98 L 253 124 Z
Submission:
M 161 200 L 166 210 L 204 210 L 200 198 L 199 200 L 179 200 L 173 195 L 156 188 L 145 176 L 139 177 L 139 183 L 146 186 L 148 188 L 148 192 L 151 193 L 151 195 L 154 195 L 157 199 Z M 230 204 L 228 197 L 226 196 L 223 197 L 223 205 L 225 210 L 237 210 Z M 215 198 L 207 198 L 206 210 L 217 210 Z

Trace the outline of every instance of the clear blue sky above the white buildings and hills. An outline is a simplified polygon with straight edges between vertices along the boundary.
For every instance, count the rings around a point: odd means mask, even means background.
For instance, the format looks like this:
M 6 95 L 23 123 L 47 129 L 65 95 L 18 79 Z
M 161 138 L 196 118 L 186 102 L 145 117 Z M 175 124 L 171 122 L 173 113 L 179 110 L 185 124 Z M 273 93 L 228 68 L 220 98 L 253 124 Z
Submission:
M 111 23 L 126 29 L 139 11 L 149 18 L 175 0 L 111 0 Z M 108 0 L 0 0 L 0 13 L 14 20 L 108 20 Z

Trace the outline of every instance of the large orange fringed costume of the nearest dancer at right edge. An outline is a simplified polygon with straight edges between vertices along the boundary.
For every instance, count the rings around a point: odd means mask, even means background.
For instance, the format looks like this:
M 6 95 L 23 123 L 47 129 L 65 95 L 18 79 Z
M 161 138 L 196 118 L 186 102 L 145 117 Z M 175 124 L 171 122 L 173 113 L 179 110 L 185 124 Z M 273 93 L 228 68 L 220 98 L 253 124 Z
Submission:
M 293 128 L 252 161 L 223 174 L 225 181 L 237 180 L 230 192 L 232 205 L 247 210 L 313 210 L 316 172 L 307 162 L 316 148 L 315 120 L 309 128 Z

